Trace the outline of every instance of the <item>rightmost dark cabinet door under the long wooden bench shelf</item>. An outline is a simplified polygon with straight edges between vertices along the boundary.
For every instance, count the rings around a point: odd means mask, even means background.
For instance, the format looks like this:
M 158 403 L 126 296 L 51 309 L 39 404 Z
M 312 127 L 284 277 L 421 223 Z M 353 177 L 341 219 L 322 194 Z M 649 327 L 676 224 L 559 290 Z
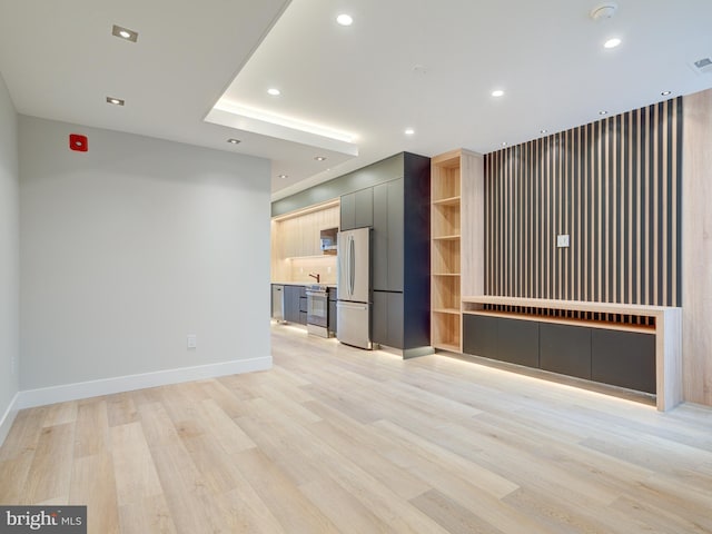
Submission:
M 591 377 L 596 382 L 655 393 L 655 335 L 593 328 Z

